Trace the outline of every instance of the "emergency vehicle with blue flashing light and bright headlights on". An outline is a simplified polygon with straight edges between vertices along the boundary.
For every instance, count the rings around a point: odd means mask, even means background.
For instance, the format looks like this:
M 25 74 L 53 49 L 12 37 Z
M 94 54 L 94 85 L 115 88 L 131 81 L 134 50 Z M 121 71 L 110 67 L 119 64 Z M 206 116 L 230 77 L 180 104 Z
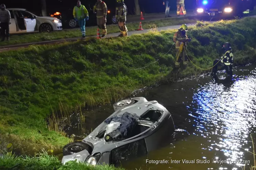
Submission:
M 196 0 L 195 14 L 198 16 L 233 17 L 253 10 L 253 0 Z

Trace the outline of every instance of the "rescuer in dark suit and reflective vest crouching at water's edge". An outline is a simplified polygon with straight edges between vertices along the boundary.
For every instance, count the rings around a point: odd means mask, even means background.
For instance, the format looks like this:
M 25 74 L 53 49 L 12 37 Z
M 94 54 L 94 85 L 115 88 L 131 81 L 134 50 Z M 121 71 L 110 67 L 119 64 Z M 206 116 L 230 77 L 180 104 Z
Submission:
M 233 68 L 233 62 L 234 62 L 234 56 L 232 52 L 231 45 L 229 43 L 225 43 L 222 46 L 222 49 L 224 50 L 224 55 L 216 59 L 213 62 L 213 69 L 212 69 L 212 75 L 215 77 L 217 73 L 218 66 L 223 66 L 226 69 L 226 72 L 228 74 L 228 77 L 232 78 L 232 68 Z

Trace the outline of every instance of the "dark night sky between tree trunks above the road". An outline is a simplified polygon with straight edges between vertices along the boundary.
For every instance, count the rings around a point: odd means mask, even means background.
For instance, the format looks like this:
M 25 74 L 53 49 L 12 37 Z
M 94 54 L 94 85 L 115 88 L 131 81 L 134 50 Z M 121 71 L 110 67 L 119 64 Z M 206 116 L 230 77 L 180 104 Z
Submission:
M 46 0 L 47 13 L 54 13 L 63 9 L 73 9 L 77 0 Z M 103 0 L 108 8 L 115 7 L 115 0 Z M 170 10 L 176 10 L 176 0 L 170 0 Z M 185 0 L 185 7 L 187 9 L 194 8 L 196 0 Z M 81 0 L 82 4 L 94 5 L 97 0 Z M 6 8 L 17 7 L 26 8 L 28 11 L 34 12 L 39 15 L 41 13 L 40 0 L 1 0 L 1 3 L 6 5 Z M 162 4 L 162 0 L 139 0 L 141 11 L 143 13 L 161 13 L 165 12 L 165 6 Z M 125 0 L 125 4 L 128 8 L 128 13 L 132 14 L 134 9 L 133 0 Z

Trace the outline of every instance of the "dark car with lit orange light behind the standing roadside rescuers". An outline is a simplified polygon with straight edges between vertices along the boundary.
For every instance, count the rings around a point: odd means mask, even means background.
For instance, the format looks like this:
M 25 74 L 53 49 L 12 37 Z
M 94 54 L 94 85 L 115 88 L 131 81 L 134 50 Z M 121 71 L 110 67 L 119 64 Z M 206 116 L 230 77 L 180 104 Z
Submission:
M 85 5 L 88 13 L 89 13 L 89 20 L 85 22 L 87 27 L 89 26 L 97 26 L 97 19 L 96 14 L 93 12 L 93 5 Z M 61 20 L 63 28 L 76 28 L 78 26 L 78 22 L 73 17 L 73 8 L 66 8 L 59 10 L 51 15 L 52 17 L 56 17 Z M 115 9 L 108 8 L 108 13 L 106 15 L 107 23 L 106 24 L 113 24 L 117 23 L 115 18 Z

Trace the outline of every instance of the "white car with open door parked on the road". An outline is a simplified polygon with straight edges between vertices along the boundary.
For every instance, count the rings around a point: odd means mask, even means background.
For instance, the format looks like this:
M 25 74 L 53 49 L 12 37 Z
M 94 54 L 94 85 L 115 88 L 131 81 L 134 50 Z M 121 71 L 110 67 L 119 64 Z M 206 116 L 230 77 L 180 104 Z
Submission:
M 10 34 L 51 32 L 62 30 L 62 23 L 54 17 L 39 17 L 23 8 L 6 8 L 11 13 Z

